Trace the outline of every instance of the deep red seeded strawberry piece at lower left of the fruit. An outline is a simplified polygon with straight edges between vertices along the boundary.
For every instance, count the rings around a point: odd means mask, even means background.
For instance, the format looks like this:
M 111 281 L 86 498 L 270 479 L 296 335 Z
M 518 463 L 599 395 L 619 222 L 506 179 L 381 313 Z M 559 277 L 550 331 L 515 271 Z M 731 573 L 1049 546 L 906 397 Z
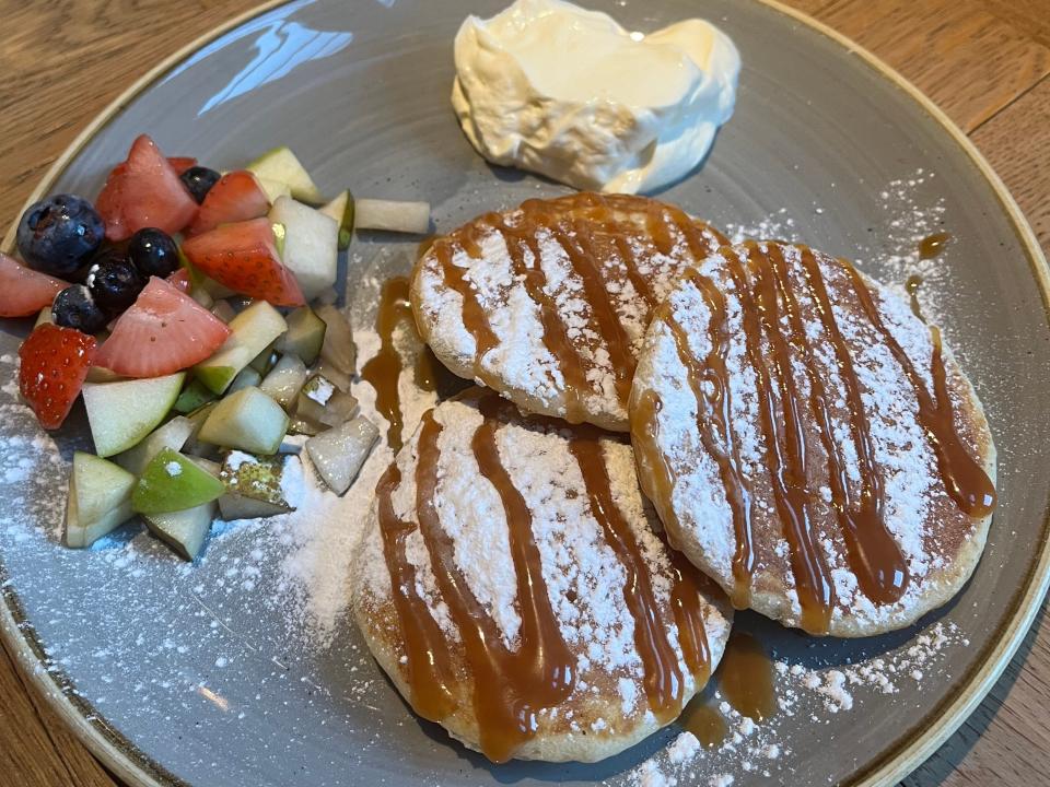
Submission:
M 58 428 L 69 415 L 95 356 L 95 338 L 45 322 L 19 350 L 19 390 L 44 428 Z

